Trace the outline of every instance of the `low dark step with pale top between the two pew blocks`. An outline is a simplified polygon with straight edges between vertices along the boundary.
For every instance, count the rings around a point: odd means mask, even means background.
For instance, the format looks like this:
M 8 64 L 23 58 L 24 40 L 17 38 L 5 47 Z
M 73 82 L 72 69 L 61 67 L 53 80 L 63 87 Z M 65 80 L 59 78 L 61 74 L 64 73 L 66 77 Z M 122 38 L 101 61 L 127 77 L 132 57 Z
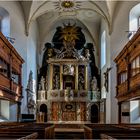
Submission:
M 84 139 L 84 129 L 55 128 L 55 139 Z

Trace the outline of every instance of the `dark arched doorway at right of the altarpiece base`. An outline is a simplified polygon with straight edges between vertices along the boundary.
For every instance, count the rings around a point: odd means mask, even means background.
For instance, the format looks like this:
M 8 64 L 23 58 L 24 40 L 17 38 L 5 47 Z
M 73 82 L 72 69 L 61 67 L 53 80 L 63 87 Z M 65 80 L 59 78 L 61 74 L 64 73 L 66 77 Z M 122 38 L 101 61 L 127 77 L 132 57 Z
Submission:
M 91 123 L 99 122 L 99 108 L 97 104 L 91 105 Z

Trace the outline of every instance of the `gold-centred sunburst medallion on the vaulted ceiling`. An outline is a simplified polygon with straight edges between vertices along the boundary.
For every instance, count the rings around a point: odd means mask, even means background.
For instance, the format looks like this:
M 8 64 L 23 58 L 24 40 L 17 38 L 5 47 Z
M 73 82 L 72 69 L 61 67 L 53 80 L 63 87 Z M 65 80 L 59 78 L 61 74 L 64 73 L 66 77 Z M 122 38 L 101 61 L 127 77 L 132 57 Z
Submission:
M 76 1 L 76 0 L 59 0 L 53 2 L 54 6 L 56 7 L 56 10 L 59 10 L 60 12 L 71 12 L 75 11 L 80 8 L 81 6 L 81 1 Z

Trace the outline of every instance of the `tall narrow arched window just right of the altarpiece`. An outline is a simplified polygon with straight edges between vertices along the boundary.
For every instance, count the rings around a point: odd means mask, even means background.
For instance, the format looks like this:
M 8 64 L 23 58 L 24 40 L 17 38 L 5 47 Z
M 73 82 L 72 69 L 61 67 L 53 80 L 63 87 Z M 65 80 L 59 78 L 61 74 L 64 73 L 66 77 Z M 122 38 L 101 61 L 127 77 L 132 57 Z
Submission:
M 101 68 L 106 64 L 106 32 L 104 31 L 101 36 Z

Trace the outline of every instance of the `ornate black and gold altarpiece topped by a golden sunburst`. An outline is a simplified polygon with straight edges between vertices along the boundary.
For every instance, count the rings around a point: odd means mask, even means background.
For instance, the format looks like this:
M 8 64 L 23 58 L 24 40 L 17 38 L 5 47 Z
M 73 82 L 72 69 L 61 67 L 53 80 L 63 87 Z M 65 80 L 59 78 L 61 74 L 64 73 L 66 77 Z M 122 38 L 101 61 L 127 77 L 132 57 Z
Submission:
M 58 27 L 52 41 L 53 45 L 46 43 L 40 69 L 39 81 L 43 76 L 46 82 L 45 89 L 38 90 L 38 111 L 41 104 L 46 104 L 49 121 L 88 121 L 93 93 L 90 82 L 93 76 L 99 81 L 93 45 L 84 47 L 81 28 L 70 24 Z M 95 71 L 89 72 L 91 66 Z

